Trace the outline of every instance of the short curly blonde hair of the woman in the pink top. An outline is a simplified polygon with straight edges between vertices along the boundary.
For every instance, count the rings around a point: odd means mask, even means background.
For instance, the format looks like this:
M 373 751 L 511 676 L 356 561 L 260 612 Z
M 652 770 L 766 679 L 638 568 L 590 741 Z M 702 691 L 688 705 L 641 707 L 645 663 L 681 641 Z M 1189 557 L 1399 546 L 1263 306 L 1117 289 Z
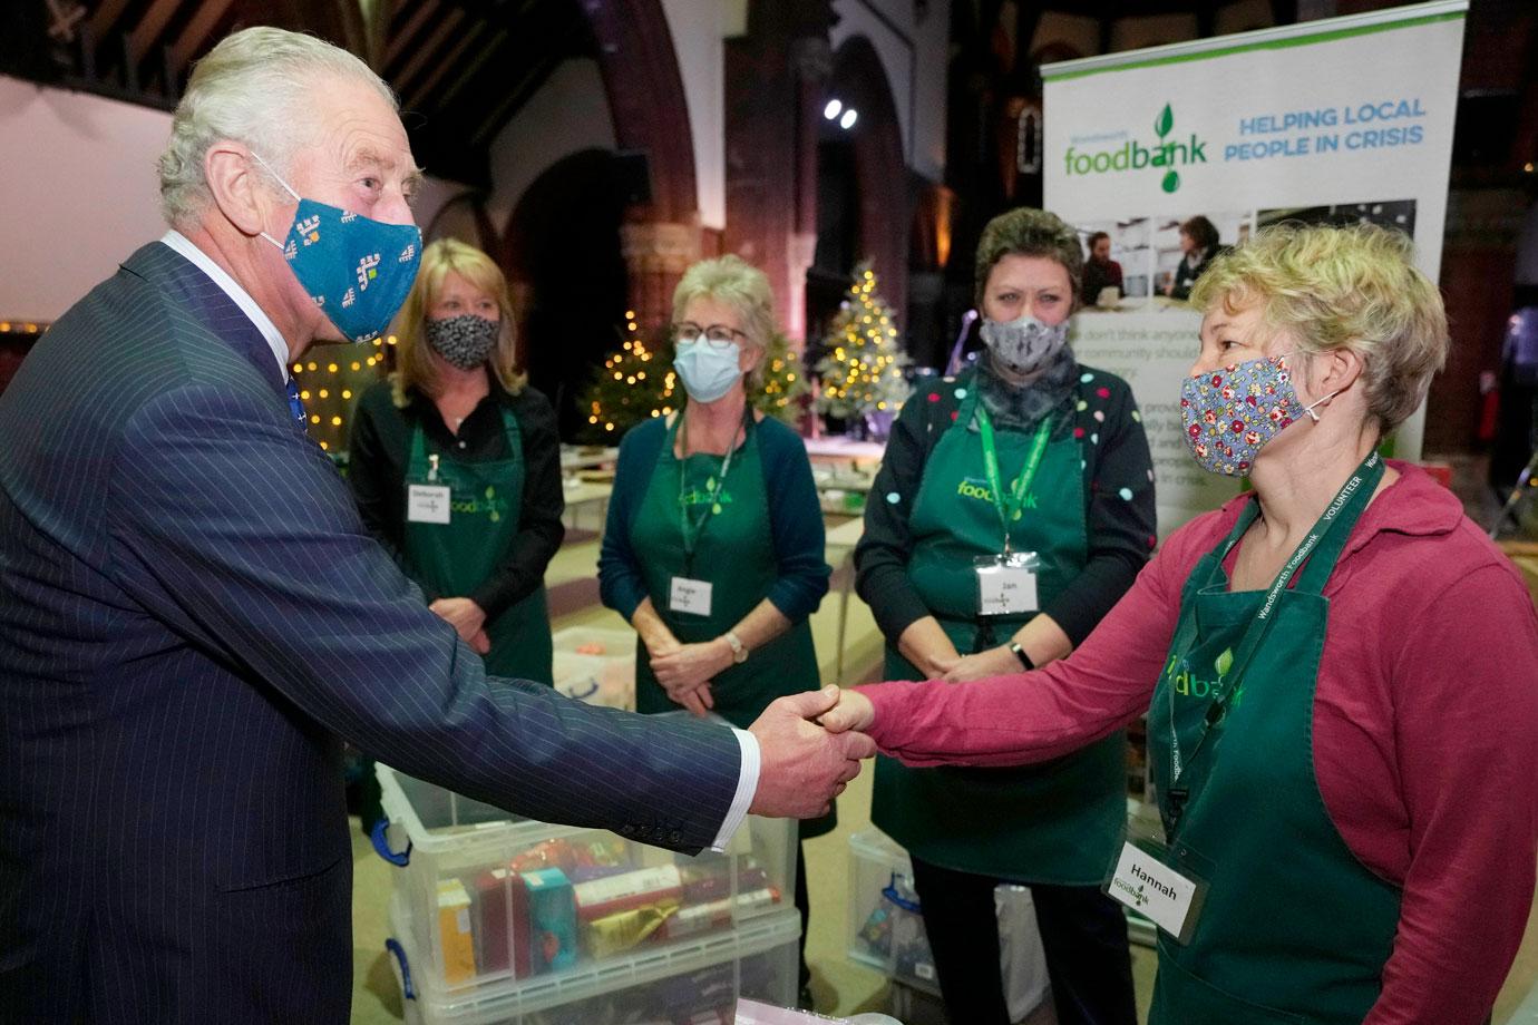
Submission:
M 1284 223 L 1212 261 L 1190 292 L 1203 312 L 1260 304 L 1309 355 L 1350 349 L 1363 360 L 1367 412 L 1389 432 L 1426 400 L 1447 363 L 1447 312 L 1404 232 Z

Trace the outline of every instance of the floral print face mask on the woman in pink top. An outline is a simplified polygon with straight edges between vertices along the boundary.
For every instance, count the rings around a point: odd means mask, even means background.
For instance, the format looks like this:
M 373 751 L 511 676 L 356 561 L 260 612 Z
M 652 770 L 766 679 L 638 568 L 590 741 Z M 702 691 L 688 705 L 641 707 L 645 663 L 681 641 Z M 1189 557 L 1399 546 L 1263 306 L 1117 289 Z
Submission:
M 1212 473 L 1249 476 L 1261 447 L 1300 416 L 1320 421 L 1292 387 L 1286 357 L 1230 363 L 1218 370 L 1189 376 L 1180 384 L 1180 416 L 1186 444 L 1197 463 Z

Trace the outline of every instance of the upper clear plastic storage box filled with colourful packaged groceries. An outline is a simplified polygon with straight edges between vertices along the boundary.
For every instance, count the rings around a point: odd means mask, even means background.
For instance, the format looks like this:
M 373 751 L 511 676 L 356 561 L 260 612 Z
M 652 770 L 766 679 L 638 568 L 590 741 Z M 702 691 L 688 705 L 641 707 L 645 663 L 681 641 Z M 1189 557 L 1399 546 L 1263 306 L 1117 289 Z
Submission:
M 695 947 L 792 908 L 795 822 L 747 816 L 697 857 L 603 830 L 512 819 L 388 765 L 375 768 L 400 865 L 395 893 L 429 991 L 538 980 Z

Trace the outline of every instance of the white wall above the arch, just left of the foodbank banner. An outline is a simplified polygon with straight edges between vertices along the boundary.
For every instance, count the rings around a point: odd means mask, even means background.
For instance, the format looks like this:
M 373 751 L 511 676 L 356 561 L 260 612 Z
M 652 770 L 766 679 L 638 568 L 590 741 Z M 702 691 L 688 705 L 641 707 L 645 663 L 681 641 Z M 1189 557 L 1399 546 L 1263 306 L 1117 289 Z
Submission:
M 907 166 L 930 181 L 943 180 L 949 0 L 930 0 L 923 22 L 915 22 L 912 0 L 834 0 L 834 51 L 851 35 L 864 35 L 881 58 Z

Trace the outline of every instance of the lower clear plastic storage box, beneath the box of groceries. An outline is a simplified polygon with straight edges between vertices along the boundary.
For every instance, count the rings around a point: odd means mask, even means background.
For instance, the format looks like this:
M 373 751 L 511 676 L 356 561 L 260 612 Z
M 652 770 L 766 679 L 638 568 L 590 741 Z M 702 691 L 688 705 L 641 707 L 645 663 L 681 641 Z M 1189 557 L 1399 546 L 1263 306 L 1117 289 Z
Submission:
M 643 948 L 571 971 L 444 991 L 421 977 L 421 948 L 403 894 L 391 901 L 388 944 L 408 1025 L 731 1025 L 738 996 L 795 1003 L 795 908 L 735 930 Z

